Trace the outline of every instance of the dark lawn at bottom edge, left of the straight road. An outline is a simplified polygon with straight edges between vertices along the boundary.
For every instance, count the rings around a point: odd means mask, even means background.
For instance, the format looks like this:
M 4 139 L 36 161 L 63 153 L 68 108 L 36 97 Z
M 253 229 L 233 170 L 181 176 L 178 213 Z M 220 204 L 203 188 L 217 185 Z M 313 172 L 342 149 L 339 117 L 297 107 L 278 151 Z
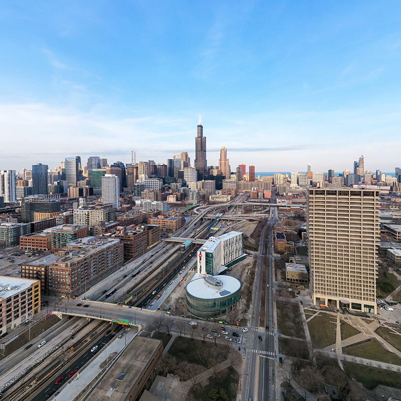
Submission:
M 217 376 L 209 380 L 208 384 L 203 387 L 191 388 L 189 394 L 199 401 L 209 401 L 209 393 L 212 389 L 220 391 L 223 389 L 228 396 L 229 401 L 234 401 L 237 396 L 238 388 L 238 375 L 237 372 L 229 367 L 218 372 Z

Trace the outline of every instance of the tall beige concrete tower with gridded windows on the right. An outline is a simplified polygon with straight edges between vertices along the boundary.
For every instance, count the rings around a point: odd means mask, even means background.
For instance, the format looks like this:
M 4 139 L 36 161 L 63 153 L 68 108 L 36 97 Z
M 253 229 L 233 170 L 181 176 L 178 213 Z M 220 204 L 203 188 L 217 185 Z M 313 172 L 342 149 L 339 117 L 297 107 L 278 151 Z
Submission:
M 313 303 L 376 312 L 379 191 L 308 189 Z

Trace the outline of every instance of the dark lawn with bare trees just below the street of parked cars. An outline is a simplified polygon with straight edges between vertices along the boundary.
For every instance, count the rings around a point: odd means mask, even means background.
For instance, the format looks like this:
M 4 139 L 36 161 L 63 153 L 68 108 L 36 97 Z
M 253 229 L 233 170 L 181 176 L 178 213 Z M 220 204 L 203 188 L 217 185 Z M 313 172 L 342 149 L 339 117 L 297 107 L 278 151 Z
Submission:
M 202 358 L 205 350 L 212 354 L 215 359 L 215 363 L 212 365 L 216 365 L 227 359 L 229 347 L 218 343 L 215 346 L 214 341 L 202 342 L 200 339 L 191 340 L 187 337 L 177 337 L 171 344 L 168 353 L 174 355 L 180 361 L 205 366 L 205 360 Z M 219 356 L 221 356 L 220 361 L 218 360 Z

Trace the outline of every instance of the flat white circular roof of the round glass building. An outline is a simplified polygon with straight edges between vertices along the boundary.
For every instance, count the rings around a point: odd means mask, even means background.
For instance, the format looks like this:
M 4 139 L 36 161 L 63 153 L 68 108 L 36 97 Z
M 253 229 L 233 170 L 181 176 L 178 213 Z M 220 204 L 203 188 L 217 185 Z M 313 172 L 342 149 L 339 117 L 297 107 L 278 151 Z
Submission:
M 241 282 L 230 276 L 209 276 L 195 274 L 186 285 L 188 294 L 203 299 L 218 299 L 241 288 Z

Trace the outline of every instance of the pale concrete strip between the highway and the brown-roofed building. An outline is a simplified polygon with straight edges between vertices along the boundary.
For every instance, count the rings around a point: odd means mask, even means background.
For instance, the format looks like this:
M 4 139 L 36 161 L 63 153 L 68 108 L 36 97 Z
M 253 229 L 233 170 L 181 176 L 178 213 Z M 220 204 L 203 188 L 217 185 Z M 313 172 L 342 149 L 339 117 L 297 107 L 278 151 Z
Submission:
M 134 330 L 129 330 L 126 333 L 126 342 L 133 339 L 138 333 Z M 89 365 L 85 366 L 81 372 L 79 372 L 79 377 L 74 376 L 72 380 L 63 385 L 61 393 L 55 398 L 56 400 L 74 400 L 79 394 L 85 390 L 89 389 L 89 383 L 101 372 L 100 364 L 106 361 L 107 357 L 113 352 L 120 352 L 125 346 L 124 338 L 119 339 L 117 336 L 113 341 L 108 343 L 105 348 L 97 354 L 97 356 L 91 359 Z

